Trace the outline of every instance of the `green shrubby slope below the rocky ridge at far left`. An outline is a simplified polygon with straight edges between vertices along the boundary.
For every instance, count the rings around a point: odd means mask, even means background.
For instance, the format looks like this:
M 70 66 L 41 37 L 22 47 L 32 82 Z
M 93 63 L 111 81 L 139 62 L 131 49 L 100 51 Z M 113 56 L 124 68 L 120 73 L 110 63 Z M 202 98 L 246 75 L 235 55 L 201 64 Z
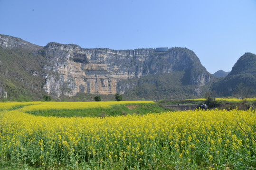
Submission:
M 8 100 L 39 100 L 43 97 L 44 78 L 40 75 L 44 57 L 25 49 L 0 49 L 1 96 Z

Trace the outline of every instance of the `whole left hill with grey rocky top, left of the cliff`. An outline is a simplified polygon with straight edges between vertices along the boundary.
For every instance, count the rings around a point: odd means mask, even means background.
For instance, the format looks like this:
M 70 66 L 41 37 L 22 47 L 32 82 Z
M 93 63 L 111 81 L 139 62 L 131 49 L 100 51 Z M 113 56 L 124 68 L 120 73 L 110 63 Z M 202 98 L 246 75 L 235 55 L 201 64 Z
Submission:
M 45 79 L 41 74 L 45 72 L 43 66 L 46 62 L 45 57 L 37 54 L 41 48 L 0 34 L 0 98 L 41 98 L 45 93 L 42 89 Z

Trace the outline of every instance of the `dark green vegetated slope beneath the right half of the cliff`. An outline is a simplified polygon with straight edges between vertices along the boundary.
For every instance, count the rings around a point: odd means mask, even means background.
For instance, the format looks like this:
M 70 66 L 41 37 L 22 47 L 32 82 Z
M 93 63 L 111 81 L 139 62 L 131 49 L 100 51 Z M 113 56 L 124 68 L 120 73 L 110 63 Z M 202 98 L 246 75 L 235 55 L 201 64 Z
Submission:
M 185 71 L 173 71 L 148 75 L 142 78 L 129 79 L 120 82 L 122 84 L 137 84 L 124 93 L 124 97 L 131 99 L 160 100 L 160 99 L 186 99 L 200 97 L 209 85 L 198 87 L 188 85 Z

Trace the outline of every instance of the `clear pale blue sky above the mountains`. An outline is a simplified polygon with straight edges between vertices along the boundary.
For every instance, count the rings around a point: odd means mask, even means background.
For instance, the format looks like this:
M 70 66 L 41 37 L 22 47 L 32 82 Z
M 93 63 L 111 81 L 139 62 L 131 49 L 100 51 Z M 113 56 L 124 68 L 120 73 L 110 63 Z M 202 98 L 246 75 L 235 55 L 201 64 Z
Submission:
M 186 47 L 213 74 L 256 54 L 256 0 L 0 0 L 0 34 L 41 46 Z

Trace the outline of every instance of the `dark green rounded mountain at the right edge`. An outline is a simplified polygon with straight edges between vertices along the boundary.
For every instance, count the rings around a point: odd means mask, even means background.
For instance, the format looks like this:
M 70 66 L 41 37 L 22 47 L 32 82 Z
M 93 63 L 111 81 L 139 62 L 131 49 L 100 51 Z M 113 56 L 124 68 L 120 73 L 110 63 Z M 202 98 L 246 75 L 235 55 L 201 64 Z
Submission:
M 239 84 L 256 94 L 256 54 L 247 52 L 242 55 L 228 76 L 214 84 L 212 89 L 221 95 L 232 95 Z

